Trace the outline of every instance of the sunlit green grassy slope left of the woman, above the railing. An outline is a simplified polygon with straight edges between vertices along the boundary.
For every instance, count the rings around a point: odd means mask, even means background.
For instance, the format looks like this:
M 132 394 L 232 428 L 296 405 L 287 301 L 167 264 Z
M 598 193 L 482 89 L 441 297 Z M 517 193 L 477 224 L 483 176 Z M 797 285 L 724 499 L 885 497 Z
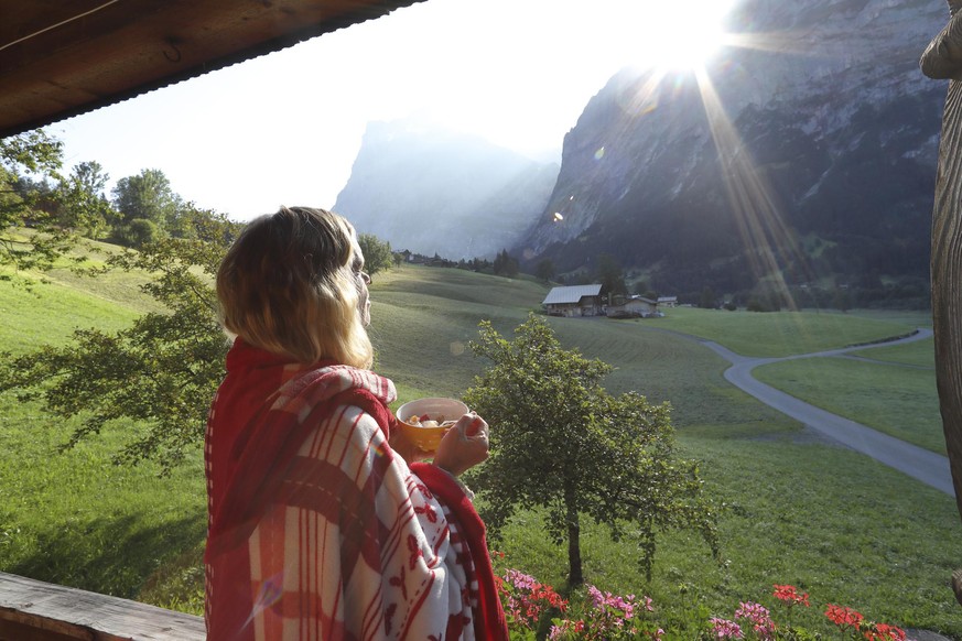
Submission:
M 0 280 L 0 350 L 62 345 L 75 329 L 115 332 L 155 308 L 138 289 L 143 278 L 90 279 L 66 269 L 26 276 Z M 149 464 L 111 461 L 122 432 L 137 425 L 115 425 L 101 439 L 61 453 L 74 427 L 36 402 L 0 394 L 0 568 L 199 611 L 196 594 L 171 591 L 199 577 L 206 535 L 199 454 L 161 479 Z

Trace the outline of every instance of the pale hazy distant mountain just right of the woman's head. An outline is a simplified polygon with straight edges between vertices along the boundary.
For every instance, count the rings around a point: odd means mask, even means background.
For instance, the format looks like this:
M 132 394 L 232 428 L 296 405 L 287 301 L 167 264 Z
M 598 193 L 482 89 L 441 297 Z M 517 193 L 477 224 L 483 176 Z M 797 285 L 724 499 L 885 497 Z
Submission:
M 490 259 L 532 227 L 558 171 L 482 138 L 371 122 L 334 210 L 396 250 Z

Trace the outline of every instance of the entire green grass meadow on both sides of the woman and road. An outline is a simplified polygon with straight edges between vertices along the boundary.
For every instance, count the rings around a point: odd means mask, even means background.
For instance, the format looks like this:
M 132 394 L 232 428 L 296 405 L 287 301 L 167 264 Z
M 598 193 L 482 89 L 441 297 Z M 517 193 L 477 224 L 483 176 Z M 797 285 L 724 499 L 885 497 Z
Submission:
M 111 278 L 80 282 L 55 273 L 32 291 L 17 279 L 0 280 L 0 349 L 63 344 L 75 327 L 119 328 L 150 307 L 125 278 Z M 460 395 L 485 367 L 469 348 L 478 323 L 489 319 L 510 337 L 547 290 L 451 269 L 379 273 L 371 287 L 376 367 L 396 381 L 400 401 Z M 609 391 L 637 390 L 671 403 L 679 449 L 701 461 L 706 490 L 724 503 L 721 557 L 695 535 L 664 533 L 650 582 L 637 569 L 630 539 L 612 543 L 602 528 L 585 523 L 588 583 L 648 595 L 657 616 L 674 626 L 731 618 L 739 600 L 778 613 L 772 584 L 793 584 L 813 604 L 795 622 L 814 630 L 829 631 L 821 612 L 833 602 L 962 640 L 962 613 L 949 587 L 951 572 L 962 567 L 954 500 L 733 388 L 722 377 L 725 361 L 681 335 L 739 354 L 786 356 L 902 335 L 923 316 L 678 308 L 651 320 L 549 322 L 565 347 L 616 368 L 606 379 Z M 862 360 L 799 359 L 756 372 L 938 449 L 927 349 L 930 341 L 872 347 L 860 350 Z M 61 453 L 71 428 L 33 403 L 0 395 L 0 571 L 199 613 L 206 519 L 199 450 L 160 478 L 151 465 L 110 461 L 119 435 L 137 425 L 116 425 Z M 548 540 L 537 512 L 519 513 L 497 548 L 505 555 L 498 567 L 563 587 L 566 551 Z

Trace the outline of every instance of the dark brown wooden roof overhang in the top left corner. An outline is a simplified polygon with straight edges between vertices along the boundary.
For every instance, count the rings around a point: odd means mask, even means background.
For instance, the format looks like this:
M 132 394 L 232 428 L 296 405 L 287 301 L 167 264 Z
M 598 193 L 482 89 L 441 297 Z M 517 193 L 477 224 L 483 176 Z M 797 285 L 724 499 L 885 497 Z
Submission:
M 420 1 L 0 0 L 0 138 Z

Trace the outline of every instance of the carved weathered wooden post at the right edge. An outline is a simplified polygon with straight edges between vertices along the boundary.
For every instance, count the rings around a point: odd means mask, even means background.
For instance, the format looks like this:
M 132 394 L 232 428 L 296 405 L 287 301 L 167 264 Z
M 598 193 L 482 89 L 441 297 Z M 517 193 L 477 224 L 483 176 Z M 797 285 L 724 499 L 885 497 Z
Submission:
M 932 210 L 932 327 L 936 380 L 955 503 L 962 515 L 962 0 L 949 0 L 949 24 L 922 54 L 922 73 L 949 80 Z M 962 569 L 952 575 L 962 604 Z

